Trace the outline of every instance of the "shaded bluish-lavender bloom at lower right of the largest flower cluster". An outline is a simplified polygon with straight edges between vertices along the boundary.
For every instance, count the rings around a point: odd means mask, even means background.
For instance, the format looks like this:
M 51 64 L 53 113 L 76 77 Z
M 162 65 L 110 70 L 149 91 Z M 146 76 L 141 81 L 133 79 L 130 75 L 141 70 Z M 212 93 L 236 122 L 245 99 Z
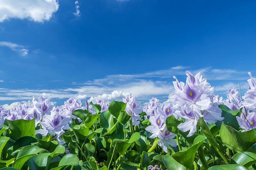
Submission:
M 222 110 L 218 107 L 218 103 L 211 103 L 211 107 L 207 110 L 202 111 L 204 121 L 212 124 L 217 121 L 222 121 L 224 117 L 221 117 Z

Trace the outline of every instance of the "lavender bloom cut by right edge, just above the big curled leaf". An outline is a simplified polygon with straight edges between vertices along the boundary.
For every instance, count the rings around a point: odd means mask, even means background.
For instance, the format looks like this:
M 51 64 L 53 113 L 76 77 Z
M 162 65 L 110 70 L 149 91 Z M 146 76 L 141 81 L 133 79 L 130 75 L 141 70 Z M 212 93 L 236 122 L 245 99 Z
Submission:
M 242 132 L 256 128 L 256 112 L 249 113 L 245 119 L 241 117 L 236 116 L 236 120 L 239 126 L 244 129 Z

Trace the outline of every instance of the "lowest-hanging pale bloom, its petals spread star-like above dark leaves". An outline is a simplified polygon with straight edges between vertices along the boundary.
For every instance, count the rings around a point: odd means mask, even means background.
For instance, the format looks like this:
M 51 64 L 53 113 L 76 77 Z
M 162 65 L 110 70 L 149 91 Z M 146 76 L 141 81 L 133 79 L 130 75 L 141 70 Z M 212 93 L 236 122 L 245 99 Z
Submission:
M 177 142 L 173 139 L 176 135 L 172 132 L 170 132 L 166 127 L 164 128 L 163 132 L 159 132 L 157 141 L 157 144 L 161 146 L 164 150 L 164 152 L 168 152 L 167 145 L 176 147 Z

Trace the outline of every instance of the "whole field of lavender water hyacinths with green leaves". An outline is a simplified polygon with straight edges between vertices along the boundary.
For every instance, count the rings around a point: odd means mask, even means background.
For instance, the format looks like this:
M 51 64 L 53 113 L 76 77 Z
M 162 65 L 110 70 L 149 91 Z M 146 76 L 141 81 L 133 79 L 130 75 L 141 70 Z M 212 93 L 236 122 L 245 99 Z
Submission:
M 256 78 L 242 99 L 210 94 L 200 73 L 163 104 L 141 110 L 135 96 L 96 103 L 69 98 L 60 107 L 42 95 L 33 105 L 0 106 L 2 170 L 256 169 Z

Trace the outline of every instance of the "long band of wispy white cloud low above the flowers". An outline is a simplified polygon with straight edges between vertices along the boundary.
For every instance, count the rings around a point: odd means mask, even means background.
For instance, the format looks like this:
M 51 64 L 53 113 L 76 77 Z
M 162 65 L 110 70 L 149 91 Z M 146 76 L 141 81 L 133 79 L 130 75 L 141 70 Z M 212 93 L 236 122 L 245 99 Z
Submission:
M 138 100 L 144 100 L 145 102 L 152 97 L 165 101 L 168 95 L 174 92 L 172 81 L 175 79 L 172 76 L 177 76 L 179 81 L 185 82 L 186 70 L 189 70 L 189 68 L 179 66 L 135 75 L 108 75 L 80 84 L 74 82 L 68 88 L 58 90 L 0 88 L 0 100 L 31 100 L 32 96 L 39 97 L 40 94 L 43 94 L 46 98 L 51 98 L 53 101 L 55 99 L 65 101 L 69 97 L 81 100 L 95 100 L 98 97 L 102 97 L 104 100 L 122 100 L 126 94 L 133 94 Z M 207 78 L 207 82 L 212 85 L 211 91 L 224 98 L 228 89 L 232 87 L 239 89 L 238 82 L 241 83 L 242 92 L 245 92 L 248 88 L 246 79 L 250 77 L 246 71 L 238 72 L 236 70 L 212 68 L 199 68 L 190 71 L 193 74 L 200 71 L 203 78 Z M 230 79 L 231 75 L 233 77 Z

